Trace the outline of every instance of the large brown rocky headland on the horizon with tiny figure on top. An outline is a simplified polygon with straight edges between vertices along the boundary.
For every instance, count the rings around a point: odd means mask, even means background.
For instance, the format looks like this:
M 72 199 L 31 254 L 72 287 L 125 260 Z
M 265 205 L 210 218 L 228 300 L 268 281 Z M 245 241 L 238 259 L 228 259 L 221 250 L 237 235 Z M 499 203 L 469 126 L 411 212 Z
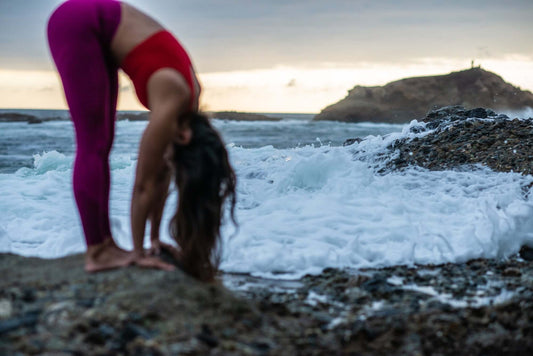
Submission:
M 314 120 L 404 123 L 449 105 L 523 110 L 533 108 L 533 94 L 475 67 L 447 75 L 401 79 L 385 86 L 358 85 Z

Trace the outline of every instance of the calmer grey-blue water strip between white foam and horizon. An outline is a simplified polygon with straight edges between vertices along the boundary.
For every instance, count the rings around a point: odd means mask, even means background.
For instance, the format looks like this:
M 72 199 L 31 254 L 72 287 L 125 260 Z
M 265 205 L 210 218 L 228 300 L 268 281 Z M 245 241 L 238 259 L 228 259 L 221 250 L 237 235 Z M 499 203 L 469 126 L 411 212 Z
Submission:
M 33 116 L 42 123 L 0 122 L 0 173 L 13 173 L 33 166 L 33 156 L 57 151 L 70 156 L 75 151 L 74 129 L 66 110 L 0 110 L 2 114 Z M 339 146 L 352 137 L 385 135 L 401 131 L 402 125 L 315 122 L 311 114 L 268 114 L 281 121 L 213 120 L 227 144 L 243 148 L 274 148 L 307 145 Z M 135 155 L 146 121 L 119 121 L 113 152 Z

